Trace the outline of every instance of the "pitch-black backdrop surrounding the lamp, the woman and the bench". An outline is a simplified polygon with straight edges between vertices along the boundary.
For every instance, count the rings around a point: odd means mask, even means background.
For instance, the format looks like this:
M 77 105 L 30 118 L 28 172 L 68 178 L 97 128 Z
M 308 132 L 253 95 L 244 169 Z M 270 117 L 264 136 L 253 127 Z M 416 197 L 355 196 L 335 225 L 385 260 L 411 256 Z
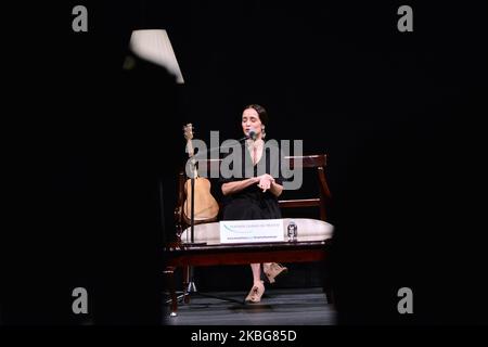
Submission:
M 72 30 L 76 4 L 88 33 Z M 3 323 L 160 322 L 182 125 L 237 138 L 248 103 L 268 110 L 269 137 L 330 155 L 339 323 L 486 323 L 487 11 L 412 3 L 414 31 L 399 33 L 401 4 L 11 11 Z M 167 29 L 184 85 L 144 62 L 121 69 L 132 28 Z M 70 311 L 76 286 L 90 293 L 88 318 Z M 412 316 L 397 312 L 402 286 Z

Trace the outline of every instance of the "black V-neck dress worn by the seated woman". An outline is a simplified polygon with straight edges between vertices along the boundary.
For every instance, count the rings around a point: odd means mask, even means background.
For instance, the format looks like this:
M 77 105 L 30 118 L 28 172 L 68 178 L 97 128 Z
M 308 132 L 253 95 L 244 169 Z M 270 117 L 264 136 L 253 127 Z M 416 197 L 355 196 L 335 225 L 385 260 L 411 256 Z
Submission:
M 242 163 L 246 165 L 252 164 L 251 153 L 247 150 L 246 144 L 243 144 L 241 147 L 242 151 Z M 265 153 L 260 160 L 254 165 L 252 168 L 248 168 L 247 172 L 252 172 L 253 177 L 257 177 L 262 175 L 262 170 L 266 170 L 266 174 L 272 176 L 271 172 L 280 172 L 279 170 L 279 162 L 274 160 L 270 155 L 270 149 L 265 146 Z M 272 153 L 271 153 L 272 154 Z M 266 165 L 266 166 L 264 166 Z M 278 167 L 277 167 L 278 166 Z M 258 175 L 259 167 L 259 175 Z M 241 177 L 231 177 L 231 178 L 221 178 L 220 182 L 233 182 L 244 180 L 251 177 L 245 175 L 245 165 L 242 165 L 242 176 Z M 279 174 L 278 177 L 273 177 L 278 184 L 282 184 L 282 177 Z M 229 194 L 224 196 L 223 200 L 223 214 L 222 220 L 244 220 L 244 219 L 275 219 L 281 218 L 280 206 L 278 204 L 278 198 L 274 194 L 272 194 L 269 190 L 262 193 L 262 190 L 259 189 L 257 184 L 252 184 L 242 191 L 233 194 Z

